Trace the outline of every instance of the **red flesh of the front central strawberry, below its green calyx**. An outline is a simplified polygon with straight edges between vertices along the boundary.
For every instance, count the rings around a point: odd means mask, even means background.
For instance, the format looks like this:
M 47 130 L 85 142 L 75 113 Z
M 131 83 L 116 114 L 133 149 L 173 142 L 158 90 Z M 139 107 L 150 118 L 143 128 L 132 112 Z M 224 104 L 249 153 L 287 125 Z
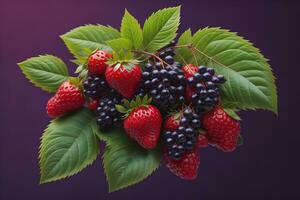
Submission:
M 159 110 L 152 105 L 134 108 L 124 120 L 124 129 L 145 149 L 156 146 L 162 124 Z

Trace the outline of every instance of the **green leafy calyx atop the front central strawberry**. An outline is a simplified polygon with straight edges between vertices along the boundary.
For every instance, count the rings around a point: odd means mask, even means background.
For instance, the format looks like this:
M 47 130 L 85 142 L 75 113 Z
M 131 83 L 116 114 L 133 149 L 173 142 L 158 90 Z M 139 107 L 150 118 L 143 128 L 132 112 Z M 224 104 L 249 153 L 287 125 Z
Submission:
M 148 106 L 152 101 L 152 98 L 148 95 L 144 97 L 137 96 L 135 99 L 129 101 L 124 99 L 123 104 L 117 104 L 116 109 L 124 114 L 124 118 L 127 118 L 128 115 L 135 109 L 141 106 Z

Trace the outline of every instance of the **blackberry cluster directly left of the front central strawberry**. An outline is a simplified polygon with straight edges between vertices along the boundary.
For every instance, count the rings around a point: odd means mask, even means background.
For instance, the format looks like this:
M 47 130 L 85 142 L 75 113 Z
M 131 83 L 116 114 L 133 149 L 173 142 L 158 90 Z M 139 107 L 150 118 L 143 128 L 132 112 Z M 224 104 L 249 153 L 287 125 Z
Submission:
M 95 112 L 100 129 L 107 130 L 112 125 L 119 125 L 122 121 L 122 115 L 117 111 L 115 105 L 121 104 L 122 99 L 115 93 L 111 96 L 102 97 L 99 101 L 99 106 Z

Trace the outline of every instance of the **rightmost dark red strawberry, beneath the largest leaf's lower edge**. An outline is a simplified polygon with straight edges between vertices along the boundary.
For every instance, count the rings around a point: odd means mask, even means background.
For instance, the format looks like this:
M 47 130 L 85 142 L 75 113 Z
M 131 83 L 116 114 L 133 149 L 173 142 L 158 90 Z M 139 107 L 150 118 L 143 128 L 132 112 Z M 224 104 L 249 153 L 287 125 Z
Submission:
M 241 131 L 240 123 L 230 117 L 221 107 L 209 111 L 203 116 L 203 127 L 210 143 L 225 152 L 235 150 Z

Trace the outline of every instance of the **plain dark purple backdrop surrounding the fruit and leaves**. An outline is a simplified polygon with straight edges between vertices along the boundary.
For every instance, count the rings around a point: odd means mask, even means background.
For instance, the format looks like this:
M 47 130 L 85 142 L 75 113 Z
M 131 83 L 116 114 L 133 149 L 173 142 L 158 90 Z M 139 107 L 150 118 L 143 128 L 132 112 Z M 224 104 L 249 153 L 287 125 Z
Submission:
M 161 167 L 146 181 L 108 194 L 99 157 L 70 179 L 39 185 L 38 145 L 49 121 L 44 107 L 50 94 L 33 87 L 16 63 L 47 53 L 70 64 L 72 56 L 59 35 L 90 23 L 119 27 L 124 8 L 144 21 L 152 11 L 178 4 L 182 4 L 180 31 L 222 26 L 262 50 L 277 76 L 279 117 L 265 111 L 242 112 L 244 146 L 230 154 L 204 149 L 199 178 L 193 182 Z M 299 4 L 0 0 L 0 199 L 299 199 Z

